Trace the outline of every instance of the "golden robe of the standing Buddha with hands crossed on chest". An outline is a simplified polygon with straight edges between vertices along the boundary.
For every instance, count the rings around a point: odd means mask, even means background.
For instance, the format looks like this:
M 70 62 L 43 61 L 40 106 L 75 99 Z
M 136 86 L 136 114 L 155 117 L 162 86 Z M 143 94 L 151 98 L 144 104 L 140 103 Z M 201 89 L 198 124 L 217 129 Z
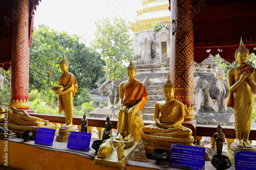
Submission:
M 252 65 L 243 64 L 233 72 L 233 84 L 237 83 L 244 71 L 249 71 L 252 80 L 256 81 L 255 69 Z M 234 109 L 234 129 L 237 132 L 250 132 L 251 118 L 254 107 L 255 95 L 245 79 L 238 88 L 231 92 L 227 100 L 227 106 Z

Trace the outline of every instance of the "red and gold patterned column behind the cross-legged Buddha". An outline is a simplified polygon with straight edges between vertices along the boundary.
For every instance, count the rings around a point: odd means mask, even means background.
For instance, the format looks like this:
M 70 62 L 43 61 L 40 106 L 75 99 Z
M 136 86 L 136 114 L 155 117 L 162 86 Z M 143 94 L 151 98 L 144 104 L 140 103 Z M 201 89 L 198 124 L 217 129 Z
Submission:
M 184 123 L 194 122 L 194 30 L 191 0 L 173 0 L 170 4 L 170 76 L 175 85 L 175 99 L 188 107 Z

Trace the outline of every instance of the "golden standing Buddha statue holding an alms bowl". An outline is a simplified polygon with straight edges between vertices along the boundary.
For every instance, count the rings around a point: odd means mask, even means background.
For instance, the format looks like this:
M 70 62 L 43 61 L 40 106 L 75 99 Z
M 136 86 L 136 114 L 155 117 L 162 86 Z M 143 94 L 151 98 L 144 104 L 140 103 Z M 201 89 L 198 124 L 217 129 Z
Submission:
M 55 86 L 52 90 L 59 95 L 59 113 L 64 110 L 66 124 L 62 125 L 62 128 L 69 128 L 73 126 L 73 98 L 78 89 L 75 76 L 68 71 L 69 62 L 63 59 L 59 63 L 61 71 L 63 73 L 59 76 L 59 86 Z

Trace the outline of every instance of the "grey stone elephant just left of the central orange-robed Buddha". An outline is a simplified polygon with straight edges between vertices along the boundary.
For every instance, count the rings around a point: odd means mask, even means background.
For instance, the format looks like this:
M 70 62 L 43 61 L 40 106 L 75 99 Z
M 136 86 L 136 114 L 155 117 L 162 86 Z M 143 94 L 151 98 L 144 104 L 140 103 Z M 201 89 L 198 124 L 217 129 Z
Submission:
M 112 80 L 106 80 L 99 88 L 99 94 L 100 94 L 100 101 L 99 101 L 99 108 L 103 108 L 102 105 L 102 96 L 103 96 L 103 90 L 106 91 L 106 94 L 108 95 L 108 108 L 114 108 L 114 104 L 117 104 L 117 101 L 119 99 L 119 86 L 114 84 Z

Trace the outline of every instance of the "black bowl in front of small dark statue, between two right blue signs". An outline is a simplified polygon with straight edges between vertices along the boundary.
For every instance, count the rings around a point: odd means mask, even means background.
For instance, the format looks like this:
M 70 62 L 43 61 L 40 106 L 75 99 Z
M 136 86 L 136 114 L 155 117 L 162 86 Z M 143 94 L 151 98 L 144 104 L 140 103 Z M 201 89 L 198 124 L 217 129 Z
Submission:
M 224 170 L 231 166 L 231 162 L 230 162 L 229 158 L 225 155 L 214 155 L 211 158 L 210 163 L 217 170 L 222 170 L 222 169 Z

